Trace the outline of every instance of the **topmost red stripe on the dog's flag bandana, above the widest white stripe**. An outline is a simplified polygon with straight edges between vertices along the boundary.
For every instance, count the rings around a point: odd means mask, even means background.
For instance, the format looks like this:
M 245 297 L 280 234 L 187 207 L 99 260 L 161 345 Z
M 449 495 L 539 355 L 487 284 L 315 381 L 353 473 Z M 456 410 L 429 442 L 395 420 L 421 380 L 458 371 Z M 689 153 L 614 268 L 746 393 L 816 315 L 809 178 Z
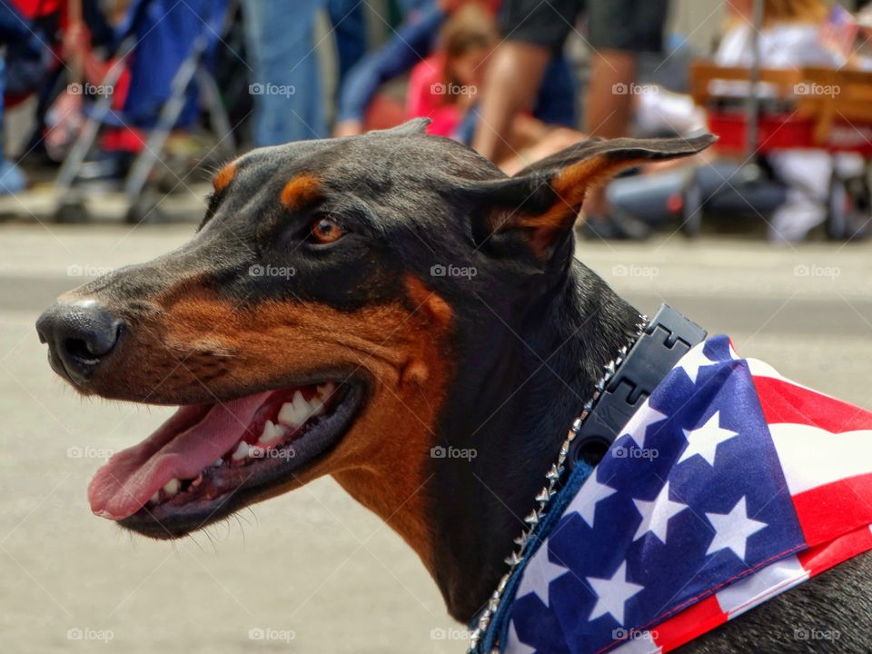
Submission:
M 841 433 L 872 429 L 872 413 L 772 377 L 754 377 L 768 423 L 798 422 Z

